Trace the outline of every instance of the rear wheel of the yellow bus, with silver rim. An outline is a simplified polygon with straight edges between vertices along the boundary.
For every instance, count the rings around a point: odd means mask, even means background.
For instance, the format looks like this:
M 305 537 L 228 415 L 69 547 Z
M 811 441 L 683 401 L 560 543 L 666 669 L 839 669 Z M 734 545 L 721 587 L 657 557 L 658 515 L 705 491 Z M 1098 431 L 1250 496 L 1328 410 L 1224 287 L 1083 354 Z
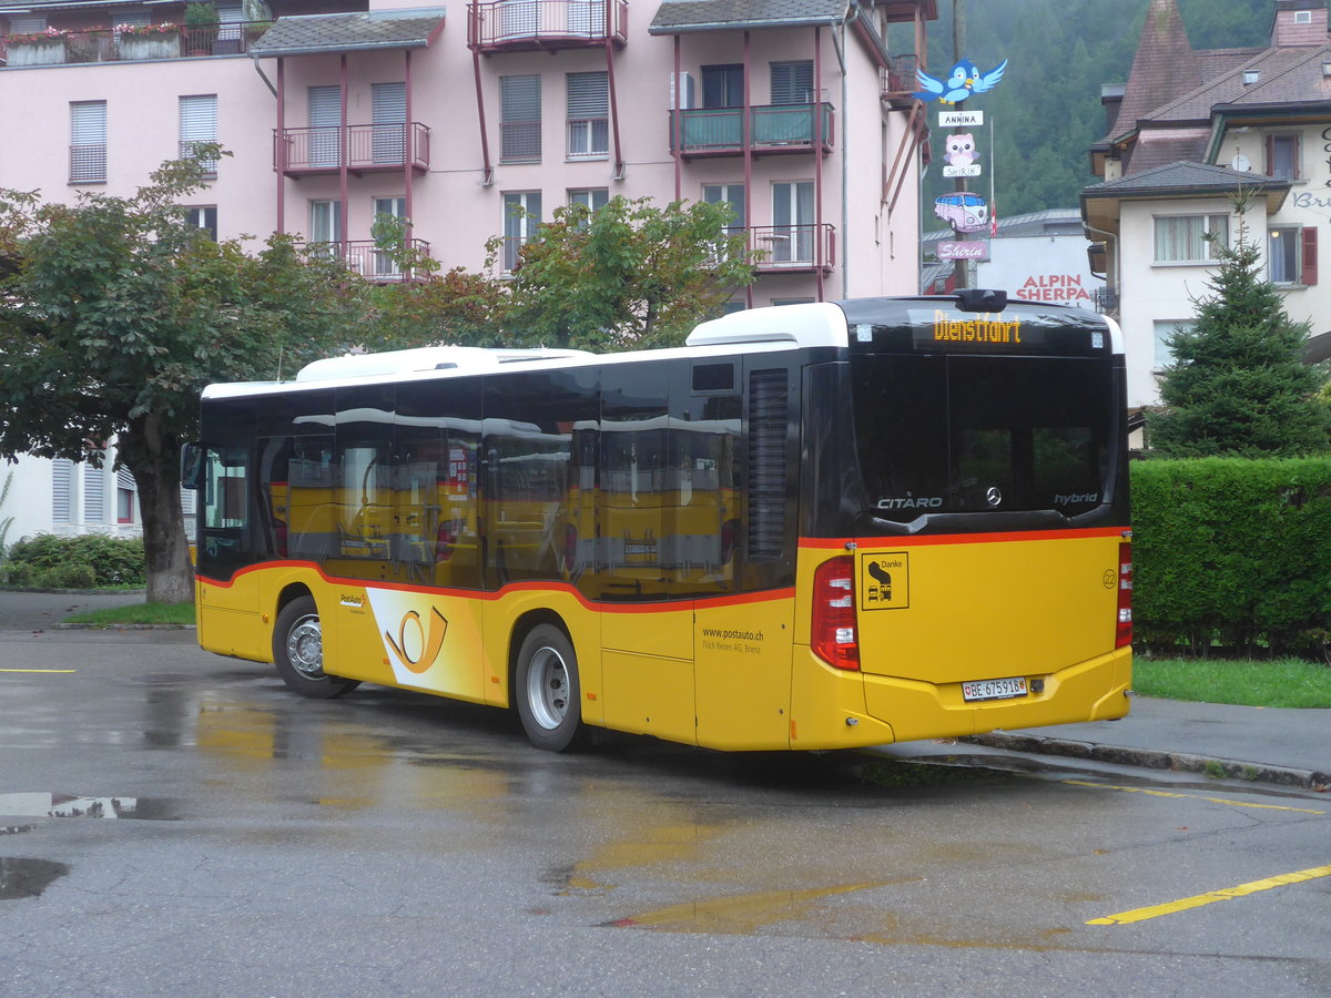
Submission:
M 582 744 L 582 684 L 568 635 L 538 624 L 522 641 L 515 673 L 518 717 L 539 749 L 566 752 Z

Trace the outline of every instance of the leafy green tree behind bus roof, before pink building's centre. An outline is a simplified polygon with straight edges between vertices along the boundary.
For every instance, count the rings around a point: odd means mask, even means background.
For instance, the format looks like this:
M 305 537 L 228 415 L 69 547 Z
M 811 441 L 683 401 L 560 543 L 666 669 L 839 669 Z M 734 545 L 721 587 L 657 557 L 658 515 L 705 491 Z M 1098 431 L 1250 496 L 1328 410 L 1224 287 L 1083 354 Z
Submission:
M 623 197 L 555 209 L 524 244 L 504 325 L 531 345 L 590 350 L 681 343 L 753 279 L 729 205 Z M 500 246 L 491 240 L 494 259 Z

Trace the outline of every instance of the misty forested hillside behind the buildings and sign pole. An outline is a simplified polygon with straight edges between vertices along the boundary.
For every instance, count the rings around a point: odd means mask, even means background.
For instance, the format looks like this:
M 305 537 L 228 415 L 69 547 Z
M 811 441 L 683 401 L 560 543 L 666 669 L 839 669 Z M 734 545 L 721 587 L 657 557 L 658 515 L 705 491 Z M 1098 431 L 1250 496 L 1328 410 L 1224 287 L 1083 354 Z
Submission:
M 994 206 L 1008 217 L 1049 208 L 1077 208 L 1078 194 L 1098 182 L 1087 148 L 1105 137 L 1102 84 L 1126 83 L 1146 16 L 1147 0 L 938 0 L 929 24 L 929 69 L 946 76 L 953 55 L 954 1 L 961 8 L 961 56 L 982 72 L 1008 60 L 1002 83 L 964 106 L 981 109 L 988 128 L 981 144 L 994 144 Z M 1193 48 L 1266 45 L 1275 0 L 1179 0 Z M 893 52 L 909 51 L 904 36 L 889 37 Z M 933 132 L 933 166 L 925 178 L 925 228 L 937 220 L 932 204 L 953 189 L 942 177 L 942 136 L 937 104 L 926 105 Z M 988 166 L 989 149 L 981 145 Z M 970 189 L 989 197 L 990 177 Z

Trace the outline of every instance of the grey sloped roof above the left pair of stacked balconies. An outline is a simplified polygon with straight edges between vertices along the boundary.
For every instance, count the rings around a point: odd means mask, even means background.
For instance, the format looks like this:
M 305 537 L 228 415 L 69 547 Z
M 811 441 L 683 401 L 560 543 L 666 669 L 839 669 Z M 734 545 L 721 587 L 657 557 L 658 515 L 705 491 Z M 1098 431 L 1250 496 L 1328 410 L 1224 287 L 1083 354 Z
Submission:
M 250 45 L 250 55 L 274 57 L 425 48 L 442 27 L 442 7 L 278 17 L 264 37 Z

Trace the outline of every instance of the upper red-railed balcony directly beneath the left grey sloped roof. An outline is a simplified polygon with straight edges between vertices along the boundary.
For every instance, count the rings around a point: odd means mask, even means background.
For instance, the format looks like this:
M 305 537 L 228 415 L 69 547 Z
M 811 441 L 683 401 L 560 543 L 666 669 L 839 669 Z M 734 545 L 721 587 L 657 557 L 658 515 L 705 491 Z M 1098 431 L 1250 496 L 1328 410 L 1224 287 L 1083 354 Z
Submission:
M 399 125 L 338 125 L 273 129 L 273 169 L 287 177 L 339 173 L 393 173 L 430 169 L 430 129 L 419 121 Z

